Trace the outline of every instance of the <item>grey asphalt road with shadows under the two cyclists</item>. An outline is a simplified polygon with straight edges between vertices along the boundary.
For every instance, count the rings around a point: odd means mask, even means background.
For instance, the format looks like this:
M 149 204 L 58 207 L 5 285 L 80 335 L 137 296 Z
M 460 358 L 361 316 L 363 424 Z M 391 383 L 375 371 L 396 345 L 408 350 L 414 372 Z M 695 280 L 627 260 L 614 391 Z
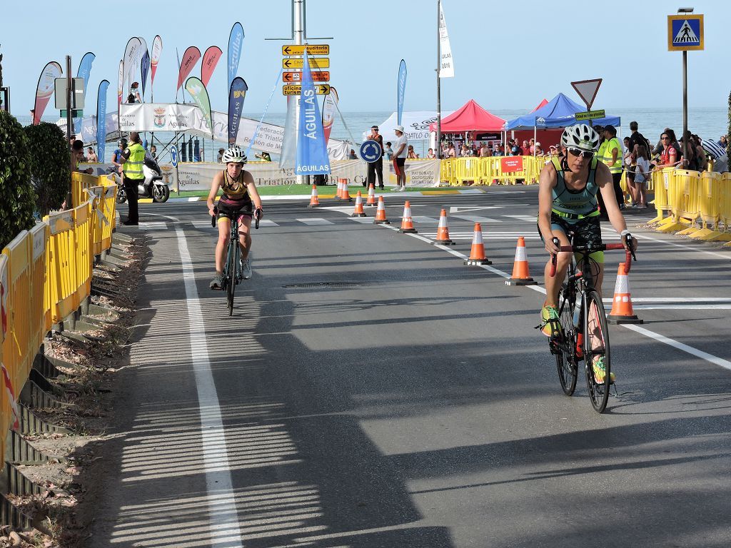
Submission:
M 599 415 L 583 378 L 561 392 L 542 288 L 504 283 L 519 235 L 542 283 L 537 188 L 409 199 L 415 236 L 395 194 L 391 228 L 265 202 L 232 317 L 205 203 L 140 205 L 121 230 L 151 255 L 89 545 L 729 547 L 730 251 L 626 214 L 645 323 L 610 327 Z M 441 208 L 450 248 L 430 243 Z M 461 259 L 474 221 L 489 268 Z

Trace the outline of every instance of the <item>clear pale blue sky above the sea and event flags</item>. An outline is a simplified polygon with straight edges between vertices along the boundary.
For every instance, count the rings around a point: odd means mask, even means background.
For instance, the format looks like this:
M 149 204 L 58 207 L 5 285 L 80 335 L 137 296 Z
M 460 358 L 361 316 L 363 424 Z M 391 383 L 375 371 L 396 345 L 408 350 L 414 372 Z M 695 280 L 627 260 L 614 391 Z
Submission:
M 213 108 L 226 110 L 225 56 L 236 20 L 246 34 L 239 66 L 239 75 L 249 84 L 245 115 L 260 113 L 279 74 L 281 45 L 287 43 L 265 38 L 289 36 L 291 28 L 290 0 L 209 0 L 200 3 L 202 9 L 181 1 L 99 0 L 77 4 L 72 16 L 64 3 L 38 4 L 45 9 L 20 1 L 7 2 L 2 9 L 4 85 L 10 85 L 16 115 L 31 109 L 38 75 L 48 61 L 58 61 L 65 69 L 64 56 L 70 54 L 75 75 L 86 51 L 96 54 L 86 112 L 93 112 L 103 78 L 110 80 L 108 102 L 113 104 L 118 61 L 127 39 L 141 36 L 151 47 L 155 34 L 163 39 L 156 101 L 175 101 L 176 47 L 182 54 L 189 45 L 201 52 L 218 45 L 224 60 L 208 91 Z M 113 20 L 126 5 L 136 5 L 132 15 Z M 442 109 L 476 99 L 488 110 L 530 110 L 558 91 L 578 101 L 569 82 L 594 77 L 604 78 L 594 108 L 681 107 L 682 54 L 667 51 L 666 16 L 689 5 L 705 15 L 705 51 L 688 56 L 689 104 L 725 107 L 731 91 L 731 4 L 726 1 L 443 0 L 455 77 L 442 80 Z M 333 37 L 327 41 L 331 83 L 338 88 L 341 110 L 395 110 L 401 58 L 409 70 L 406 110 L 436 109 L 436 0 L 308 0 L 307 7 L 308 34 Z M 95 12 L 99 15 L 91 15 Z M 67 28 L 72 29 L 70 37 Z M 192 74 L 200 76 L 200 63 Z M 53 102 L 46 114 L 52 109 Z M 270 111 L 284 110 L 280 80 Z

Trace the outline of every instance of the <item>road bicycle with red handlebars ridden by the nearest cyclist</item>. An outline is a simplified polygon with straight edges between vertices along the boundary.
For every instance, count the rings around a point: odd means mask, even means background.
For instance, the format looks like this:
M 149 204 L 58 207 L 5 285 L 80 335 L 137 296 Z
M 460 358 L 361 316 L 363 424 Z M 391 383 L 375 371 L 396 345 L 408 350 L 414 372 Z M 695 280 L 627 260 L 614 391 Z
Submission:
M 569 241 L 573 235 L 569 234 Z M 629 273 L 635 250 L 632 248 L 632 236 L 626 235 L 629 249 L 625 249 L 624 272 Z M 591 405 L 598 413 L 607 408 L 611 381 L 611 354 L 607 316 L 599 292 L 594 288 L 594 272 L 598 265 L 591 254 L 595 251 L 624 249 L 621 243 L 599 244 L 596 246 L 561 246 L 558 238 L 553 243 L 560 246 L 561 251 L 572 253 L 566 281 L 558 294 L 558 330 L 549 339 L 551 354 L 556 356 L 558 379 L 564 394 L 570 396 L 576 389 L 579 362 L 584 362 L 586 387 Z M 577 259 L 578 256 L 578 259 Z M 550 275 L 556 275 L 557 256 L 551 257 Z M 594 364 L 604 362 L 604 379 L 597 382 L 594 376 Z

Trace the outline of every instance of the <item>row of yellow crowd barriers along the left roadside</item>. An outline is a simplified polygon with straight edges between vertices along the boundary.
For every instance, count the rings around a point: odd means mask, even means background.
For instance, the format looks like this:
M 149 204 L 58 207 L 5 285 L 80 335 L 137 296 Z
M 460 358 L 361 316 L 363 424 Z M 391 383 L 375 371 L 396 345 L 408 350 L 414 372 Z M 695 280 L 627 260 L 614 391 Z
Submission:
M 91 294 L 94 256 L 112 245 L 116 185 L 78 175 L 72 180 L 75 207 L 23 230 L 0 254 L 0 455 L 43 338 Z

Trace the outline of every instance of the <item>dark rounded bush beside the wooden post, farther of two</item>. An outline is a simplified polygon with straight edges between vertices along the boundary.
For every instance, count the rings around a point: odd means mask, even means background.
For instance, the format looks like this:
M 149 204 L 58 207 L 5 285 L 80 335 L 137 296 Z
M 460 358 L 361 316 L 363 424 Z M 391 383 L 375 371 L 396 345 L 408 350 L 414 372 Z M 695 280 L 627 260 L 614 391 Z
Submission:
M 31 181 L 38 197 L 40 216 L 61 208 L 69 191 L 71 168 L 69 145 L 64 132 L 54 123 L 26 126 L 31 153 Z

